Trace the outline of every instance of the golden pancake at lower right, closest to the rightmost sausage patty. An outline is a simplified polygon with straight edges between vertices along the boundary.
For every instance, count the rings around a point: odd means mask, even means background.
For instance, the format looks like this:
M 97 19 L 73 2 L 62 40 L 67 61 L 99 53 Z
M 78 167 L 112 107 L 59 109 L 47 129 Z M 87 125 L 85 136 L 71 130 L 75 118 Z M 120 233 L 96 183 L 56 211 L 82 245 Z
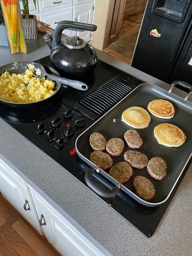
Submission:
M 154 129 L 155 137 L 159 144 L 166 147 L 179 147 L 186 141 L 186 135 L 173 124 L 159 124 Z

